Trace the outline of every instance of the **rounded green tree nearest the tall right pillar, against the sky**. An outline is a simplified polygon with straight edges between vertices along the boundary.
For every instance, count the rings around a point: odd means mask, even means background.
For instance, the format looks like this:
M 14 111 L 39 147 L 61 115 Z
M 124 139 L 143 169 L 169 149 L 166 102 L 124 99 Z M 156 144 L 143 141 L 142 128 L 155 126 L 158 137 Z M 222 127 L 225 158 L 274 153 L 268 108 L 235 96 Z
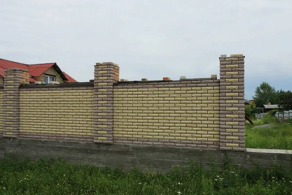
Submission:
M 262 82 L 256 87 L 255 96 L 256 107 L 263 107 L 263 104 L 267 104 L 268 100 L 271 100 L 273 104 L 278 103 L 278 96 L 274 87 L 267 82 Z

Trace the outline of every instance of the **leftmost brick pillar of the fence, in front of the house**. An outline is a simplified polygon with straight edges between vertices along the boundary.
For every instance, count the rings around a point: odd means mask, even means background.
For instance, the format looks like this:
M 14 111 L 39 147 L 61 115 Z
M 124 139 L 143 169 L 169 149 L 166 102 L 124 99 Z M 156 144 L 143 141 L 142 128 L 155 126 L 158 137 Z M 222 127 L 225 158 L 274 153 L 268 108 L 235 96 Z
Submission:
M 20 68 L 4 70 L 3 137 L 19 135 L 19 86 L 29 83 L 29 72 Z

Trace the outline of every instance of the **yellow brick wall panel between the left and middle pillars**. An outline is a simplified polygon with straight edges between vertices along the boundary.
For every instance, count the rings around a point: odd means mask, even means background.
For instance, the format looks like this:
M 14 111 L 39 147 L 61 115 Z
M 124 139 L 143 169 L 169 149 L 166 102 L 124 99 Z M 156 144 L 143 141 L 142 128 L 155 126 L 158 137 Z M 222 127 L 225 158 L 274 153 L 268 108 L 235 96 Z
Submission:
M 21 88 L 20 137 L 93 141 L 93 87 Z

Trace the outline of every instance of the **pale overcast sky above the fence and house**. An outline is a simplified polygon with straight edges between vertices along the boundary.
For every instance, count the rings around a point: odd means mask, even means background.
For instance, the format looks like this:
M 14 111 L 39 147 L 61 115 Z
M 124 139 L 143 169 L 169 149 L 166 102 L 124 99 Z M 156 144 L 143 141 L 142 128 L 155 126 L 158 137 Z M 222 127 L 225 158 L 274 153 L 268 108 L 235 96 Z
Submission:
M 0 0 L 0 58 L 56 62 L 79 82 L 96 62 L 120 78 L 219 78 L 245 55 L 245 98 L 263 81 L 292 90 L 292 0 Z

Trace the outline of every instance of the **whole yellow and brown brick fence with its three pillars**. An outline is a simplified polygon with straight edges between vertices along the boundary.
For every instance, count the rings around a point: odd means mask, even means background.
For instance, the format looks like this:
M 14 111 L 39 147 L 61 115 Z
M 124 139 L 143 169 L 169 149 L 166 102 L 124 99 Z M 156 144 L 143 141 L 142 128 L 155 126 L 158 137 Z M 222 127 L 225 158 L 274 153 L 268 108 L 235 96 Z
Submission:
M 119 81 L 118 65 L 104 62 L 94 82 L 60 85 L 7 69 L 0 137 L 244 151 L 244 56 L 219 62 L 220 79 Z

